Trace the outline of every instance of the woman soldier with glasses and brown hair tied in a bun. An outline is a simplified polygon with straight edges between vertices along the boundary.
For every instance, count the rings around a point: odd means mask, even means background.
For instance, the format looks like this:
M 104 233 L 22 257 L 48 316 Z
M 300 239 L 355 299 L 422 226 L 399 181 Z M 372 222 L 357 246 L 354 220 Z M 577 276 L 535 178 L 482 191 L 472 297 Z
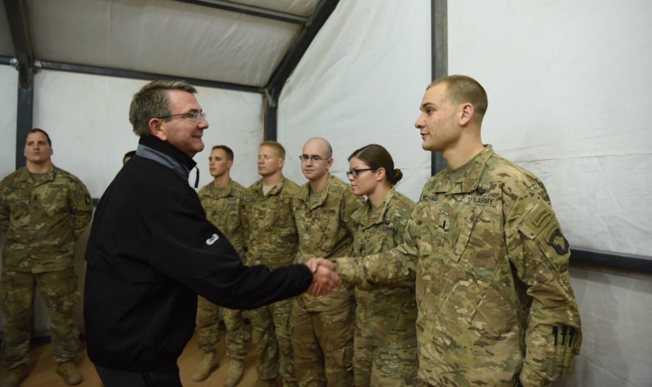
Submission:
M 353 258 L 387 251 L 403 243 L 403 230 L 414 202 L 397 192 L 400 169 L 383 146 L 370 144 L 349 156 L 346 172 L 356 196 L 367 196 L 351 215 Z M 344 259 L 344 258 L 342 258 Z M 355 285 L 355 387 L 417 386 L 417 300 L 414 278 L 381 286 L 364 272 L 342 278 Z

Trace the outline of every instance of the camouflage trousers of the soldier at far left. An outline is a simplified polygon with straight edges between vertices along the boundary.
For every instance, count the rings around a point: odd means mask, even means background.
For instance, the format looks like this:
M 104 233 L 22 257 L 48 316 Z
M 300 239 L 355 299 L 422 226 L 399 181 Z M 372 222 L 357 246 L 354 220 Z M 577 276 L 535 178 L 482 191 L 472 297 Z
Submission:
M 74 269 L 37 274 L 3 269 L 0 276 L 0 304 L 7 319 L 5 327 L 7 369 L 22 366 L 29 360 L 34 295 L 37 286 L 50 315 L 50 335 L 55 362 L 69 362 L 79 352 L 79 331 L 72 320 L 72 307 L 80 297 Z

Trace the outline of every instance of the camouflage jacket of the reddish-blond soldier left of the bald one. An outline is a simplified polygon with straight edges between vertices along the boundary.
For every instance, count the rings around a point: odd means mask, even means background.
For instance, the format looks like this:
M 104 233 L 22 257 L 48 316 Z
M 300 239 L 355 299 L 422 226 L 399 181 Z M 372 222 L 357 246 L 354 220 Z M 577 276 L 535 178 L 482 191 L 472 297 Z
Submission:
M 299 185 L 284 176 L 263 195 L 258 180 L 243 194 L 242 220 L 247 265 L 270 269 L 293 263 L 297 254 L 297 227 L 292 219 L 292 200 Z

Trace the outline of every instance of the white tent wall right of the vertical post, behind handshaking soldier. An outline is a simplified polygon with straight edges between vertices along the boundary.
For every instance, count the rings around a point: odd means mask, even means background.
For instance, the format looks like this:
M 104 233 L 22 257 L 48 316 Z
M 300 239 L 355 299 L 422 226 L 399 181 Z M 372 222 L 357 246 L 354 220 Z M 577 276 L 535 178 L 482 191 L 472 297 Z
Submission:
M 478 79 L 484 142 L 538 174 L 571 247 L 652 255 L 652 3 L 448 2 L 449 73 Z M 573 265 L 584 345 L 556 386 L 652 383 L 652 276 Z

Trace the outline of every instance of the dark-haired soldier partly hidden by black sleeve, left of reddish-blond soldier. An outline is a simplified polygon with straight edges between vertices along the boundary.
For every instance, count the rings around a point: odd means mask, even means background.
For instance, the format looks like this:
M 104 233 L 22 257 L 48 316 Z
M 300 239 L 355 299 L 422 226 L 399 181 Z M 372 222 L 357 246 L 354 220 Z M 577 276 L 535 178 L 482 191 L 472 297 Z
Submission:
M 231 180 L 233 150 L 225 145 L 213 146 L 208 160 L 213 181 L 201 187 L 198 193 L 201 206 L 206 211 L 207 219 L 226 235 L 231 245 L 242 256 L 244 237 L 240 211 L 244 187 Z M 196 335 L 204 355 L 192 374 L 192 380 L 195 382 L 205 380 L 213 369 L 219 366 L 216 354 L 220 343 L 219 309 L 213 302 L 198 296 Z M 226 353 L 231 358 L 224 386 L 233 387 L 243 376 L 248 334 L 244 331 L 241 311 L 222 308 L 222 318 L 226 325 Z

